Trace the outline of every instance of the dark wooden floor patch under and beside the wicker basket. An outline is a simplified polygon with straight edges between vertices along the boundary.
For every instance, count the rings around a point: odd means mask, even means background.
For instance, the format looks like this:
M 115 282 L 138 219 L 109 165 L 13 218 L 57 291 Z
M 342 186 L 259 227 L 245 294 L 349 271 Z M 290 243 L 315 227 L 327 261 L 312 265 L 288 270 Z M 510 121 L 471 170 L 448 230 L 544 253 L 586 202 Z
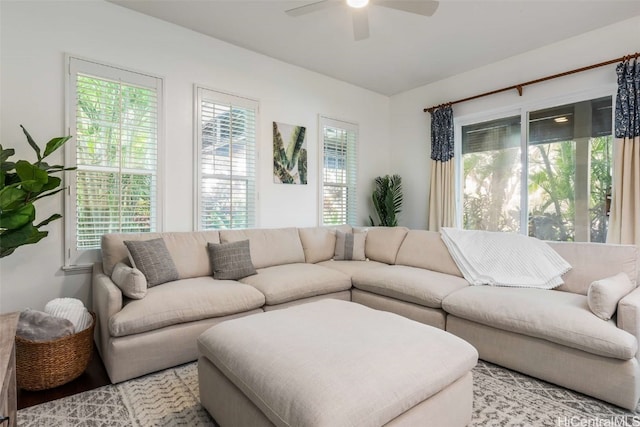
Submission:
M 82 393 L 83 391 L 93 390 L 94 388 L 107 384 L 111 384 L 111 381 L 109 381 L 109 376 L 104 368 L 102 359 L 100 359 L 100 355 L 94 348 L 93 356 L 87 370 L 75 380 L 49 390 L 18 390 L 18 409 L 71 396 L 72 394 Z

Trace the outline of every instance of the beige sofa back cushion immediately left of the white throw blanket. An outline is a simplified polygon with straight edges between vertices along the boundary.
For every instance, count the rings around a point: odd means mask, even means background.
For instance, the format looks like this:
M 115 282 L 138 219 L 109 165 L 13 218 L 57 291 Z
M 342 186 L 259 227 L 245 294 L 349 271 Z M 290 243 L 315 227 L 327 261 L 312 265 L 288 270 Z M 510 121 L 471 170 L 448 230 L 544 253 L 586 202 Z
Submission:
M 462 277 L 437 231 L 409 230 L 398 251 L 396 264 Z

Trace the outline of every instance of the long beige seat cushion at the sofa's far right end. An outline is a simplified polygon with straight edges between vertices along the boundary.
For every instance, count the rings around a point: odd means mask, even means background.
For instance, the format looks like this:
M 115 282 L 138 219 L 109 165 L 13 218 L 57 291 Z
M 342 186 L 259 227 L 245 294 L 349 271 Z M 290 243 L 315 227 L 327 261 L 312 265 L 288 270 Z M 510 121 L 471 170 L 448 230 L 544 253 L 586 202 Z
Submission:
M 636 338 L 594 315 L 584 295 L 470 286 L 447 296 L 442 307 L 463 319 L 599 356 L 628 360 L 638 350 Z

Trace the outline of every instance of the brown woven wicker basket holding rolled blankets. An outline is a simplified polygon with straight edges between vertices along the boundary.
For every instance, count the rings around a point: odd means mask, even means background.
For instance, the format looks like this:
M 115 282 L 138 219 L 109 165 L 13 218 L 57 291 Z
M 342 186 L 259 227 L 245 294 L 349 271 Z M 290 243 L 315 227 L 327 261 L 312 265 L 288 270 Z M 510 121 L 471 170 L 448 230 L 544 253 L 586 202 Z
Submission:
M 73 335 L 53 341 L 31 341 L 16 336 L 16 380 L 18 388 L 46 390 L 78 378 L 87 368 L 93 351 L 91 325 Z

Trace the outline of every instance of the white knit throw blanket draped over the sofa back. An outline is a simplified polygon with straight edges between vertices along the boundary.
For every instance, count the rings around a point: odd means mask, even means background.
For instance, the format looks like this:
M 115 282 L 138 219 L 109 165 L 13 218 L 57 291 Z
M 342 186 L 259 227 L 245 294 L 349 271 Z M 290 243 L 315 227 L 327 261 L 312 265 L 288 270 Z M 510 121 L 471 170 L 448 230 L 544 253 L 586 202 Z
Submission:
M 571 269 L 541 240 L 521 234 L 443 228 L 451 257 L 472 285 L 553 289 Z

